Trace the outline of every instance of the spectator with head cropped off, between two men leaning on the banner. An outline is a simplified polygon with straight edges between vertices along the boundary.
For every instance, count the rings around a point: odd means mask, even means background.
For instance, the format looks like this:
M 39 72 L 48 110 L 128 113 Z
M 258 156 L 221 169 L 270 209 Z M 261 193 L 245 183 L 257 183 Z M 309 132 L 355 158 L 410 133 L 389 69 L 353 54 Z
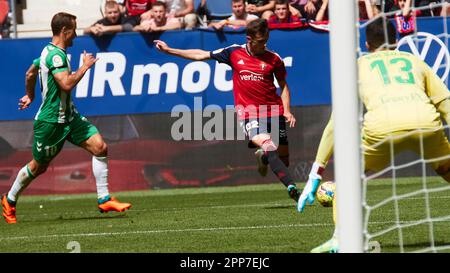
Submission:
M 169 17 L 180 18 L 184 29 L 191 30 L 197 25 L 194 0 L 165 0 Z

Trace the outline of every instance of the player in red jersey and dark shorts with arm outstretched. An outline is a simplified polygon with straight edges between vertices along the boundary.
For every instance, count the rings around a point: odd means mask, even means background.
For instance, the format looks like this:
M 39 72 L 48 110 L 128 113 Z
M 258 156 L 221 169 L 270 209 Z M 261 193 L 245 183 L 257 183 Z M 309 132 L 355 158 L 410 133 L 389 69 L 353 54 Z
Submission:
M 289 149 L 286 123 L 295 126 L 295 117 L 290 111 L 290 91 L 286 83 L 286 68 L 278 54 L 267 50 L 269 39 L 267 21 L 257 19 L 247 25 L 247 43 L 232 45 L 215 51 L 201 49 L 176 49 L 165 42 L 155 40 L 158 50 L 190 60 L 214 59 L 233 68 L 234 103 L 244 132 L 258 147 L 255 155 L 258 171 L 267 174 L 269 165 L 278 179 L 287 187 L 289 196 L 298 201 L 299 192 L 288 171 Z M 276 93 L 274 78 L 281 88 Z M 278 141 L 271 131 L 278 130 Z M 279 145 L 278 145 L 279 144 Z

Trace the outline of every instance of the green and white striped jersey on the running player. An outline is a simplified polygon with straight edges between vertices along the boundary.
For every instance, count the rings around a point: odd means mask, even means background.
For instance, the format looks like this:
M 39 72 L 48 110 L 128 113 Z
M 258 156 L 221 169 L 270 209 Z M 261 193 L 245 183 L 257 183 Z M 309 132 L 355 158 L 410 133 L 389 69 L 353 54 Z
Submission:
M 67 123 L 78 114 L 70 93 L 58 86 L 54 74 L 68 70 L 70 62 L 64 49 L 48 44 L 40 57 L 42 104 L 35 119 L 51 123 Z

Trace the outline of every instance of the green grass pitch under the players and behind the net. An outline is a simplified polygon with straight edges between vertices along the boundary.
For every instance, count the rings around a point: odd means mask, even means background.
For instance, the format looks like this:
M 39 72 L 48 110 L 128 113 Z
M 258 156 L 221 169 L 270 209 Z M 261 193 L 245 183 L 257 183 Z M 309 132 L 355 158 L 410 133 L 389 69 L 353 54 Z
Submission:
M 450 245 L 450 188 L 440 178 L 427 187 L 447 187 L 388 202 L 371 212 L 369 231 L 379 232 L 416 220 L 401 229 L 403 250 Z M 423 188 L 419 178 L 400 179 L 397 194 Z M 390 180 L 370 182 L 367 202 L 374 205 L 392 196 Z M 298 213 L 281 184 L 121 192 L 119 200 L 133 207 L 124 213 L 101 214 L 96 195 L 23 196 L 17 206 L 18 224 L 0 223 L 0 252 L 80 251 L 169 253 L 296 253 L 309 252 L 329 239 L 332 209 L 318 204 Z M 428 200 L 428 201 L 427 201 Z M 430 213 L 425 209 L 431 208 Z M 396 214 L 396 207 L 400 213 Z M 431 231 L 431 232 L 430 232 Z M 399 252 L 399 229 L 373 238 L 381 252 Z M 432 239 L 430 239 L 432 238 Z M 448 250 L 443 250 L 448 251 Z

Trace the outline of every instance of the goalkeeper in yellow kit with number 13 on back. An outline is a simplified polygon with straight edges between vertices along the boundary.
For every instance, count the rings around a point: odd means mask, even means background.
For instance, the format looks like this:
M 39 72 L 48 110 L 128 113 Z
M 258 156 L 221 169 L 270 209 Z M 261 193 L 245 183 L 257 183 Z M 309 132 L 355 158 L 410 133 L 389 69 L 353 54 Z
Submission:
M 389 45 L 385 42 L 386 32 Z M 433 169 L 450 182 L 450 144 L 442 122 L 450 124 L 450 92 L 422 60 L 407 52 L 390 50 L 395 43 L 395 27 L 391 22 L 386 22 L 386 31 L 382 19 L 367 26 L 366 46 L 370 54 L 358 59 L 359 96 L 367 110 L 361 132 L 365 171 L 380 171 L 391 163 L 392 143 L 394 154 L 408 150 L 425 160 L 434 159 Z M 299 198 L 298 211 L 302 212 L 306 203 L 314 202 L 333 144 L 331 116 Z M 311 252 L 337 250 L 335 230 L 331 240 Z

